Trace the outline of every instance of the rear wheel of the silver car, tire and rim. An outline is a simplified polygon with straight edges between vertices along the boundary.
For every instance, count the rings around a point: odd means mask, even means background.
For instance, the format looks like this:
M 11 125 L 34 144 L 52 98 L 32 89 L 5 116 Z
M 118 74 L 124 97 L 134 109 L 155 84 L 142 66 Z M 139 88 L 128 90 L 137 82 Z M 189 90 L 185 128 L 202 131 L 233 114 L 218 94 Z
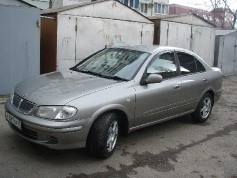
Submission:
M 192 114 L 193 119 L 198 123 L 203 123 L 209 118 L 213 107 L 213 98 L 211 94 L 205 93 L 201 98 L 195 112 Z

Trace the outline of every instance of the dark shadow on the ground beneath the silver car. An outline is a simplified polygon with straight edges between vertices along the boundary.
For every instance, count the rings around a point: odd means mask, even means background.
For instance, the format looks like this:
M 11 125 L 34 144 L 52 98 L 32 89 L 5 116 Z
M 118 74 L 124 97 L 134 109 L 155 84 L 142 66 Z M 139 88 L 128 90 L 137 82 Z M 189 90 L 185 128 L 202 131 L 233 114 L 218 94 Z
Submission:
M 139 129 L 137 131 L 131 132 L 128 135 L 128 138 L 121 137 L 118 141 L 117 150 L 121 150 L 125 145 L 132 145 L 135 142 L 139 142 L 139 140 L 146 140 L 153 135 L 158 135 L 159 133 L 169 132 L 175 129 L 183 129 L 186 126 L 184 124 L 190 125 L 200 125 L 193 121 L 191 116 L 183 116 L 177 119 L 169 120 L 163 123 L 159 123 L 153 126 L 149 126 L 146 128 Z M 178 127 L 178 128 L 177 128 Z M 181 127 L 181 128 L 179 128 Z M 158 135 L 162 138 L 161 135 Z M 130 143 L 131 140 L 139 138 L 137 141 Z M 82 149 L 73 149 L 73 150 L 52 150 L 45 146 L 41 146 L 27 140 L 20 138 L 17 135 L 12 136 L 11 144 L 20 145 L 15 146 L 13 150 L 20 152 L 21 155 L 31 156 L 33 159 L 40 161 L 41 163 L 52 163 L 60 162 L 60 164 L 67 164 L 68 162 L 77 162 L 78 160 L 82 162 L 101 162 L 101 159 L 94 157 L 91 155 L 85 148 Z M 15 143 L 15 144 L 14 144 Z M 137 143 L 138 144 L 138 143 Z M 115 151 L 116 152 L 116 151 Z

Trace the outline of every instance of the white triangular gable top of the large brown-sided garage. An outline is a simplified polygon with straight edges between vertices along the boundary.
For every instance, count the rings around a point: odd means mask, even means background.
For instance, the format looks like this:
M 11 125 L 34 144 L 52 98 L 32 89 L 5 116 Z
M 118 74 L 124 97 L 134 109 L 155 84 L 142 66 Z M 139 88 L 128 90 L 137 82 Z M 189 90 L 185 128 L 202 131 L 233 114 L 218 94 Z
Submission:
M 125 6 L 117 0 L 84 2 L 55 9 L 43 10 L 41 14 L 43 16 L 47 16 L 55 13 L 153 24 L 153 22 L 149 18 L 145 17 L 132 8 Z

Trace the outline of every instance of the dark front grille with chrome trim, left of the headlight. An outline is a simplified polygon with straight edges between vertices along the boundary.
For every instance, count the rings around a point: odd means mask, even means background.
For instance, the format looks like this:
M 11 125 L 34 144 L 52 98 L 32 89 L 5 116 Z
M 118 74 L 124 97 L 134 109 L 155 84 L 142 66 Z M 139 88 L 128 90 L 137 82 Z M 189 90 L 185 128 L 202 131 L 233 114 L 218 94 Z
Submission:
M 31 113 L 31 111 L 36 107 L 35 103 L 32 103 L 24 98 L 21 98 L 16 94 L 14 94 L 12 98 L 12 104 L 18 111 L 24 114 Z

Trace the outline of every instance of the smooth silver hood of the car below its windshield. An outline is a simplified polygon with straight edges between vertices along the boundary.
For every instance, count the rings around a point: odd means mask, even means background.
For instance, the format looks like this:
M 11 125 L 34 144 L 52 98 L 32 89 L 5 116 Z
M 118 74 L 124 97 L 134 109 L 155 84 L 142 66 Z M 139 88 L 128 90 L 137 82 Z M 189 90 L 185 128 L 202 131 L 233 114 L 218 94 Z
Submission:
M 64 105 L 119 83 L 75 71 L 52 72 L 19 83 L 14 92 L 37 105 Z

